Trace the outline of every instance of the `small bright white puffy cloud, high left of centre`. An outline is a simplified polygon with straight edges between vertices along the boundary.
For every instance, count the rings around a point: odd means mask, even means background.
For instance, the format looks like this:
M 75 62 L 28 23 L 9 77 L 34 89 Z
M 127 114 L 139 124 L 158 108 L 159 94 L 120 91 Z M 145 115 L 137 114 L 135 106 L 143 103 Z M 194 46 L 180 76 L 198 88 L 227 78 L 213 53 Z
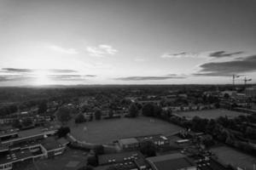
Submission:
M 118 52 L 117 49 L 114 49 L 110 45 L 101 44 L 97 47 L 87 47 L 86 51 L 91 55 L 95 57 L 105 57 L 106 55 L 114 55 Z

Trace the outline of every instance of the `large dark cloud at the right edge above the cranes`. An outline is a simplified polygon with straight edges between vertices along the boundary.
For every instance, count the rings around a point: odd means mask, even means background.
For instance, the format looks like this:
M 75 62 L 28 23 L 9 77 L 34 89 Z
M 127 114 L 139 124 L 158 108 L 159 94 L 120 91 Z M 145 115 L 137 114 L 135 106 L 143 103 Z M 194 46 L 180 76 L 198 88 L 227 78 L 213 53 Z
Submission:
M 200 65 L 201 71 L 194 76 L 228 77 L 233 74 L 256 71 L 256 55 L 224 62 L 209 62 Z

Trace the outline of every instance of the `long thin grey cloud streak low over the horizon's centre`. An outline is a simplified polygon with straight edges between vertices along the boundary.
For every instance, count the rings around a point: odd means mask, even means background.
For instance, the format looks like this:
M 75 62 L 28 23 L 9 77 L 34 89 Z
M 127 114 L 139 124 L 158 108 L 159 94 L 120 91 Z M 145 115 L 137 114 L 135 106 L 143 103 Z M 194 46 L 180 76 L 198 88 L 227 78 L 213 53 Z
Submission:
M 118 77 L 114 78 L 115 80 L 121 81 L 144 81 L 144 80 L 166 80 L 166 79 L 182 79 L 186 77 L 173 77 L 173 76 L 166 76 L 166 77 Z

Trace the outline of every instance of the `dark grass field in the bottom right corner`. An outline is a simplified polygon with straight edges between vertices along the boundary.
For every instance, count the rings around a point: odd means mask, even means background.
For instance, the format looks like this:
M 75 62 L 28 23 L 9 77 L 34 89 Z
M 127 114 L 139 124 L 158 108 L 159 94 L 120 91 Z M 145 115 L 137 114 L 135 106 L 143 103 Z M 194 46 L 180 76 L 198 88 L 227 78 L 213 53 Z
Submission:
M 212 148 L 211 151 L 218 156 L 219 161 L 222 161 L 226 164 L 230 164 L 235 167 L 241 167 L 247 170 L 253 170 L 253 163 L 256 166 L 255 157 L 244 154 L 228 146 Z

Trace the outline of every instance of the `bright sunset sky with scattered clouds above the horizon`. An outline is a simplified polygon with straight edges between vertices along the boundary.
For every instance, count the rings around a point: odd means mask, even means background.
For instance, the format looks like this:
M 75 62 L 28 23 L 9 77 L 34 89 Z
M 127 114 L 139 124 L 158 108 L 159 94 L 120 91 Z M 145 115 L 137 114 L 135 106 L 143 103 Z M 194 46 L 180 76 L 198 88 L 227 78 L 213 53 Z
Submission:
M 255 0 L 0 0 L 0 86 L 256 82 Z

